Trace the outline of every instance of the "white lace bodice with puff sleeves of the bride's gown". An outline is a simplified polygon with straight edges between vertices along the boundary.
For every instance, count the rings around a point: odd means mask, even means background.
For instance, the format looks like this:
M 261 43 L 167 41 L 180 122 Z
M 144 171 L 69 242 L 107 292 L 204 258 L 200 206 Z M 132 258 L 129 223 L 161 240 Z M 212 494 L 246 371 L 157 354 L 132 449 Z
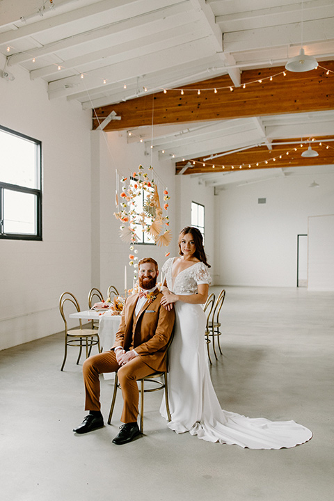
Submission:
M 211 283 L 211 276 L 207 266 L 202 262 L 197 262 L 192 264 L 191 267 L 180 271 L 173 285 L 172 268 L 174 260 L 175 257 L 170 257 L 162 267 L 170 292 L 174 292 L 174 294 L 196 294 L 198 284 Z

